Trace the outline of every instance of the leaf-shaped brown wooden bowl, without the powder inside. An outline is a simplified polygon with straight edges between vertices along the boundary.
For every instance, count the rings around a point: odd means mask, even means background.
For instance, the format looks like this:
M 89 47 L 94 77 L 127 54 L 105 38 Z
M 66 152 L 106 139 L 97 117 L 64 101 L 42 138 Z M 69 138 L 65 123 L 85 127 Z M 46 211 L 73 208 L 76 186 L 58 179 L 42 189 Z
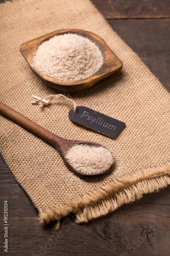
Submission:
M 93 75 L 89 76 L 83 80 L 74 80 L 74 81 L 62 81 L 51 76 L 45 75 L 43 73 L 38 72 L 35 68 L 33 68 L 33 57 L 34 52 L 38 48 L 38 46 L 45 40 L 48 40 L 56 35 L 62 35 L 65 33 L 76 33 L 78 35 L 82 35 L 87 37 L 89 40 L 94 42 L 101 50 L 104 63 L 102 67 L 95 72 Z M 64 92 L 75 92 L 80 91 L 86 88 L 90 88 L 99 80 L 115 73 L 122 69 L 123 63 L 120 61 L 116 55 L 110 50 L 110 48 L 106 45 L 106 42 L 98 35 L 93 34 L 88 31 L 78 30 L 78 29 L 64 29 L 55 31 L 38 38 L 35 38 L 31 41 L 25 42 L 20 46 L 20 52 L 27 60 L 30 68 L 34 71 L 34 73 L 46 84 L 50 87 Z

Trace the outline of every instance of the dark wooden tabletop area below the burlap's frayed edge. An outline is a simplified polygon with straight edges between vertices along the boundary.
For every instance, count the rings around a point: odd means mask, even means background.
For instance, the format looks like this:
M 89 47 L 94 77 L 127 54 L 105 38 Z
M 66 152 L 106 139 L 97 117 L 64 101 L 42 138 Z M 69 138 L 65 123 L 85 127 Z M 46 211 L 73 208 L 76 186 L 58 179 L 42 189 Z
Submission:
M 0 223 L 3 227 L 3 203 L 8 200 L 9 255 L 168 255 L 170 186 L 89 223 L 76 224 L 70 215 L 53 236 L 53 226 L 38 223 L 37 209 L 2 158 L 0 169 Z M 1 242 L 3 234 L 1 228 Z

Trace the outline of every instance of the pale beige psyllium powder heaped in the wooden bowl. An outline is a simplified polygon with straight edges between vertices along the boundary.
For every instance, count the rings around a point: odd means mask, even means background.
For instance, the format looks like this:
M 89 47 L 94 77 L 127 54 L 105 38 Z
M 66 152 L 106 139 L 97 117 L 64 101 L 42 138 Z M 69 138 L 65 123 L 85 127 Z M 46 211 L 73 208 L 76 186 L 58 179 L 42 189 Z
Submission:
M 103 65 L 99 47 L 78 34 L 63 34 L 42 42 L 35 51 L 33 67 L 53 78 L 72 81 L 93 75 Z

